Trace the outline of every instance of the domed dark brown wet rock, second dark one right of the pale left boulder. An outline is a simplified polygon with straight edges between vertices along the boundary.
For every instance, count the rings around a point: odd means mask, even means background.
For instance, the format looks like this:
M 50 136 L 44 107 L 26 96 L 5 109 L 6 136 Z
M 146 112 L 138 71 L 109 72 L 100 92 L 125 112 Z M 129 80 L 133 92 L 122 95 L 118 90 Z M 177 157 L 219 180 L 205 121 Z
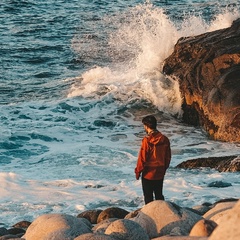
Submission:
M 129 212 L 126 211 L 125 209 L 118 208 L 118 207 L 110 207 L 105 210 L 103 210 L 97 219 L 97 223 L 108 219 L 108 218 L 119 218 L 122 219 L 124 218 Z

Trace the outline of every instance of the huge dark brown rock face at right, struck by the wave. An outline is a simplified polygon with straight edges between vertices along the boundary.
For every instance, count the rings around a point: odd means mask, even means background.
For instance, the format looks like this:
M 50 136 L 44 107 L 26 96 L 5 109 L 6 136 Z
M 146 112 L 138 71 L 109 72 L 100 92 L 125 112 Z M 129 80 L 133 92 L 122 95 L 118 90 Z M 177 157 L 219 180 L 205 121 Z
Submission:
M 240 19 L 179 39 L 163 72 L 179 80 L 185 122 L 203 126 L 213 139 L 240 142 Z

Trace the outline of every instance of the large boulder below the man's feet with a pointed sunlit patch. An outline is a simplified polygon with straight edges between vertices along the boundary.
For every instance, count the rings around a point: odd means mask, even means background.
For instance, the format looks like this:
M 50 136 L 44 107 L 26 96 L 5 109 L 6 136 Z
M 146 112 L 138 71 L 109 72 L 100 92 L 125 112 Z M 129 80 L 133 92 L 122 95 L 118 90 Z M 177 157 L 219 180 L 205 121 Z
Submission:
M 139 223 L 152 239 L 164 235 L 188 235 L 202 217 L 178 205 L 156 200 L 145 205 L 132 220 Z

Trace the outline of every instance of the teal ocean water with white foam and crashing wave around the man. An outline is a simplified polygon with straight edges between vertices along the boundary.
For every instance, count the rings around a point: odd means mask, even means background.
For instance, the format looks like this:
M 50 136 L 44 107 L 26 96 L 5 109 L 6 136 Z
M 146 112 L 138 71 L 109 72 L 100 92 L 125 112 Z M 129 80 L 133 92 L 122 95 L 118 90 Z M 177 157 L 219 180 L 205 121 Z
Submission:
M 229 27 L 237 1 L 2 0 L 0 218 L 143 206 L 134 168 L 155 114 L 171 141 L 166 200 L 240 197 L 239 173 L 180 170 L 185 160 L 239 155 L 181 122 L 178 83 L 161 66 L 180 37 Z M 213 188 L 215 181 L 229 187 Z

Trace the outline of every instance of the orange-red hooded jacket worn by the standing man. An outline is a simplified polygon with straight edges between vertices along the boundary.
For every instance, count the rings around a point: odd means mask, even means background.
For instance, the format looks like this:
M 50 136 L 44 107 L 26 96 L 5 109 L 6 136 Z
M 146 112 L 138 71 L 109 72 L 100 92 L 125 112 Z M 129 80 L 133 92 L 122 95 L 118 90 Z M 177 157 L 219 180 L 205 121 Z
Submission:
M 170 161 L 171 148 L 169 139 L 161 132 L 155 130 L 142 140 L 135 168 L 137 179 L 141 173 L 145 179 L 163 179 Z

